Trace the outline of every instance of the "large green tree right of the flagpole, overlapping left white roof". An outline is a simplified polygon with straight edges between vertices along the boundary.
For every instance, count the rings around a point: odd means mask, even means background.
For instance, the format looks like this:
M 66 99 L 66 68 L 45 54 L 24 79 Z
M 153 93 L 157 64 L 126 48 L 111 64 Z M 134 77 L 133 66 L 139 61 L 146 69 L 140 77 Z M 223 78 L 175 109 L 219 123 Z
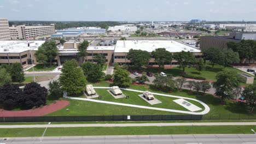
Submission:
M 54 40 L 45 41 L 34 53 L 38 62 L 50 62 L 50 67 L 55 56 L 57 56 L 57 45 Z M 46 58 L 47 59 L 46 59 Z

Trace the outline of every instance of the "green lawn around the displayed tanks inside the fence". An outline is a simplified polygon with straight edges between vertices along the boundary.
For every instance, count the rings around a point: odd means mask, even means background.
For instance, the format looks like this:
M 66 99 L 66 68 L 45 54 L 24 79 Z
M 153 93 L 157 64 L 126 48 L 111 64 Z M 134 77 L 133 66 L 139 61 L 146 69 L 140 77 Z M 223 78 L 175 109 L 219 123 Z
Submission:
M 94 86 L 109 87 L 110 84 L 101 81 L 101 83 L 94 83 Z M 210 112 L 203 116 L 203 119 L 240 119 L 240 118 L 256 118 L 256 115 L 248 117 L 248 111 L 245 104 L 236 103 L 231 100 L 226 100 L 226 105 L 220 105 L 220 99 L 213 97 L 211 94 L 203 95 L 200 93 L 196 95 L 195 92 L 190 92 L 183 89 L 182 92 L 161 92 L 159 89 L 154 87 L 146 88 L 144 86 L 135 86 L 131 85 L 131 89 L 138 89 L 141 91 L 150 91 L 156 93 L 164 93 L 171 95 L 178 95 L 182 97 L 194 98 L 203 101 L 210 107 Z M 97 93 L 102 95 L 101 100 L 107 101 L 116 101 L 120 103 L 127 104 L 137 104 L 137 105 L 149 105 L 146 101 L 142 100 L 137 96 L 138 93 L 133 93 L 130 91 L 124 91 L 124 94 L 129 95 L 130 99 L 121 98 L 114 99 L 112 95 L 106 92 L 106 89 L 96 89 Z M 80 97 L 80 96 L 79 96 Z M 84 96 L 82 96 L 84 97 Z M 179 109 L 184 110 L 182 106 L 173 103 L 173 98 L 163 97 L 155 95 L 156 98 L 162 101 L 161 104 L 155 105 L 155 107 L 167 107 L 169 109 Z M 165 111 L 156 111 L 156 110 L 147 110 L 139 109 L 135 107 L 119 106 L 119 105 L 110 105 L 110 104 L 100 104 L 90 101 L 80 101 L 80 100 L 70 100 L 70 104 L 62 110 L 50 113 L 48 116 L 80 116 L 80 115 L 182 115 L 181 113 L 174 112 L 165 112 Z M 200 106 L 195 101 L 189 100 L 191 103 Z M 66 110 L 69 109 L 69 110 Z

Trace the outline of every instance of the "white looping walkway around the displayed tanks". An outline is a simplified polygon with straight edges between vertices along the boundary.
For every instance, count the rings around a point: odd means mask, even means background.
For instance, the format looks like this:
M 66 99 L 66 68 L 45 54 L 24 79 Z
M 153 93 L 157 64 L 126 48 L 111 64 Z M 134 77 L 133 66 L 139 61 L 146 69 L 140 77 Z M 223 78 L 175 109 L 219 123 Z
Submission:
M 109 89 L 110 87 L 94 87 L 94 88 Z M 143 91 L 138 91 L 138 90 L 135 90 L 135 89 L 128 89 L 128 88 L 120 88 L 120 89 L 124 89 L 124 90 L 126 90 L 126 91 L 133 91 L 133 92 L 141 92 L 141 93 L 143 93 Z M 121 105 L 121 106 L 130 106 L 130 107 L 137 107 L 137 108 L 148 109 L 148 110 L 159 110 L 159 111 L 167 111 L 167 112 L 185 113 L 185 114 L 190 114 L 190 115 L 205 115 L 206 113 L 208 113 L 208 112 L 210 111 L 210 107 L 209 107 L 208 105 L 206 105 L 205 103 L 203 103 L 202 101 L 197 100 L 197 99 L 186 98 L 186 97 L 179 97 L 179 96 L 168 95 L 168 94 L 160 94 L 160 93 L 152 93 L 152 94 L 161 95 L 161 96 L 165 96 L 165 97 L 172 97 L 172 98 L 180 98 L 180 99 L 194 100 L 194 101 L 197 101 L 198 103 L 200 103 L 201 105 L 203 105 L 203 106 L 205 107 L 205 110 L 203 110 L 202 112 L 190 112 L 190 111 L 172 110 L 172 109 L 164 109 L 164 108 L 150 107 L 150 106 L 123 104 L 123 103 L 115 103 L 115 102 L 112 102 L 112 101 L 103 101 L 103 100 L 95 100 L 95 99 L 68 97 L 68 96 L 67 96 L 67 93 L 64 93 L 64 94 L 63 94 L 63 97 L 64 97 L 64 98 L 67 98 L 67 99 L 85 100 L 85 101 L 92 101 L 92 102 L 96 102 L 96 103 L 104 103 L 104 104 L 112 104 L 112 105 Z

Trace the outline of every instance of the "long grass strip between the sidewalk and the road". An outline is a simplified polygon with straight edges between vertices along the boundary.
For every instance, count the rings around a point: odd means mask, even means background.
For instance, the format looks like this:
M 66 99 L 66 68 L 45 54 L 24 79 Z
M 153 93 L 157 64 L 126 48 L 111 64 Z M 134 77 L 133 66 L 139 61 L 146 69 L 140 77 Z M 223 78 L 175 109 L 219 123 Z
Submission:
M 41 136 L 45 128 L 0 129 L 1 137 Z M 48 128 L 44 136 L 167 135 L 167 134 L 252 134 L 256 125 L 172 127 L 77 127 Z

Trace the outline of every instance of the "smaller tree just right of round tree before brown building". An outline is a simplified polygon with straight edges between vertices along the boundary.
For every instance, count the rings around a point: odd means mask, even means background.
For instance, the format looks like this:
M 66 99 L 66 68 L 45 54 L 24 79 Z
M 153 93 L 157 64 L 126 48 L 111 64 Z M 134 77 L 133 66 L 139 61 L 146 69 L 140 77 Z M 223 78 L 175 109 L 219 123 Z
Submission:
M 228 49 L 224 52 L 224 63 L 223 63 L 224 67 L 228 67 L 233 63 L 239 63 L 239 62 L 240 62 L 240 58 L 239 58 L 238 52 L 234 52 L 231 49 Z

